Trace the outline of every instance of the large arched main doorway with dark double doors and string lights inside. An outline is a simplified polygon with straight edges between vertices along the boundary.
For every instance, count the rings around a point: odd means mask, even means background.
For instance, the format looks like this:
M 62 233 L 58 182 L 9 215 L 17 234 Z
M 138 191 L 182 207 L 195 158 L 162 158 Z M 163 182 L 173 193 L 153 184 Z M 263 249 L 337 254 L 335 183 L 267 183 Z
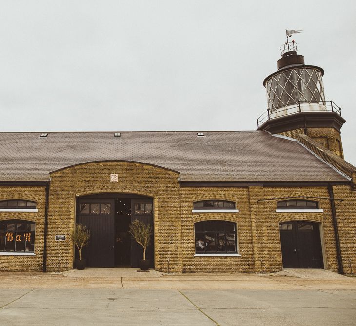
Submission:
M 142 247 L 129 234 L 132 220 L 140 219 L 153 229 L 153 200 L 132 194 L 98 194 L 77 198 L 76 223 L 90 230 L 83 250 L 88 267 L 138 267 Z M 77 250 L 76 250 L 77 251 Z M 76 252 L 77 254 L 77 252 Z M 146 250 L 154 266 L 154 236 Z

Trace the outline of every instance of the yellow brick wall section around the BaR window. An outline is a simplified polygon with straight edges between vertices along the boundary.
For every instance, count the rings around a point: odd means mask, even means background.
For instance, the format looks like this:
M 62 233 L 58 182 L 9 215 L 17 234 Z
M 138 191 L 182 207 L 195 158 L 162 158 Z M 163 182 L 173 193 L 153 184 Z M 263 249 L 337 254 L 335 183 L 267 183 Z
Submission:
M 19 219 L 36 223 L 35 256 L 0 255 L 0 271 L 41 271 L 43 264 L 45 188 L 0 187 L 0 200 L 6 199 L 25 199 L 37 203 L 38 212 L 0 212 L 0 221 Z

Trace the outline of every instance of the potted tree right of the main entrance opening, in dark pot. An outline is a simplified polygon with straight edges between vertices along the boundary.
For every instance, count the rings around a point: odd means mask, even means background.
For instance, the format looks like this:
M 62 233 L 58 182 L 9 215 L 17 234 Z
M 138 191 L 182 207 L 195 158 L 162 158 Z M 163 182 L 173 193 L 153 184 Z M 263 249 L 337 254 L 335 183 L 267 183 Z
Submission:
M 146 259 L 146 249 L 151 242 L 152 226 L 141 220 L 134 220 L 130 224 L 129 232 L 143 248 L 143 259 L 139 261 L 139 267 L 141 270 L 148 270 L 150 261 Z

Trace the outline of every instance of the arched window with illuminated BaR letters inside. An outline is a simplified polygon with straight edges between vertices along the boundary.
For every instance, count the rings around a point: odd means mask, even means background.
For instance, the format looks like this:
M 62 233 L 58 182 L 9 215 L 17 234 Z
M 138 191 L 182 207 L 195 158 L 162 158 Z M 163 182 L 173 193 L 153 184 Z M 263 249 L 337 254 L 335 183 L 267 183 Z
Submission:
M 34 252 L 35 222 L 24 220 L 0 221 L 1 252 Z

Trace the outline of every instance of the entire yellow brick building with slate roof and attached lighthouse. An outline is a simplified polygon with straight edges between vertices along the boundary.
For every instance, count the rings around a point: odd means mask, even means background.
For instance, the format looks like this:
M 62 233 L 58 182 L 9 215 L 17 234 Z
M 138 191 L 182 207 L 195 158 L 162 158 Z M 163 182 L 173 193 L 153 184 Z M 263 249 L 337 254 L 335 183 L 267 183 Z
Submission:
M 132 219 L 165 272 L 356 271 L 356 168 L 323 70 L 282 48 L 256 131 L 0 133 L 0 270 L 138 265 Z

